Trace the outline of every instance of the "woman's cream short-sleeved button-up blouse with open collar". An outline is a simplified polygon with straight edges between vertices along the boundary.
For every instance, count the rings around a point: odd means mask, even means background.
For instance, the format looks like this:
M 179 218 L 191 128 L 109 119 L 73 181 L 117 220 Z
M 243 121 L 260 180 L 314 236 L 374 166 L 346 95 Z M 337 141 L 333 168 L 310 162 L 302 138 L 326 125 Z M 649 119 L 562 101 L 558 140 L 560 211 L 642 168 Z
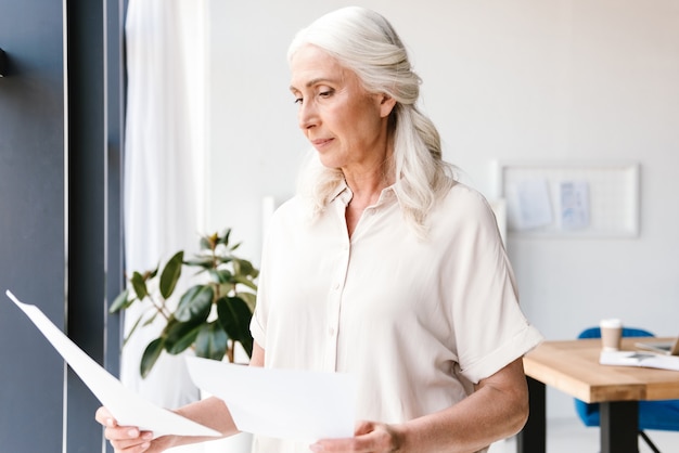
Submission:
M 298 197 L 273 215 L 251 324 L 265 366 L 353 373 L 357 419 L 400 423 L 456 404 L 541 341 L 479 193 L 457 183 L 424 240 L 392 187 L 349 238 L 350 198 L 343 185 L 318 219 Z M 262 453 L 309 451 L 255 443 Z

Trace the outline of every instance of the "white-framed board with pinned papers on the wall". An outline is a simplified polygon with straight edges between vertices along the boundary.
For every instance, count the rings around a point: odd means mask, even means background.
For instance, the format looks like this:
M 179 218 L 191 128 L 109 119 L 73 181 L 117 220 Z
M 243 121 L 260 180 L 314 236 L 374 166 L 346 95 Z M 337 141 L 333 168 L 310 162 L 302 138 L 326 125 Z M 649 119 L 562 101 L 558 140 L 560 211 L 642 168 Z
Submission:
M 494 171 L 510 235 L 639 235 L 639 163 L 496 160 Z

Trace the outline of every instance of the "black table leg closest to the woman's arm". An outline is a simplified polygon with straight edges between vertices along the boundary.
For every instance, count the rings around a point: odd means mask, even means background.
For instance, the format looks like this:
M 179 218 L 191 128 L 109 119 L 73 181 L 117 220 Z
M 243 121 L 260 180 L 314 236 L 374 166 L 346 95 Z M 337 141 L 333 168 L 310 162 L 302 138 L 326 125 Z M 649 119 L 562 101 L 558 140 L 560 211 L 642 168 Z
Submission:
M 528 380 L 530 413 L 524 429 L 516 435 L 516 453 L 545 453 L 547 449 L 547 410 L 545 384 L 533 377 Z

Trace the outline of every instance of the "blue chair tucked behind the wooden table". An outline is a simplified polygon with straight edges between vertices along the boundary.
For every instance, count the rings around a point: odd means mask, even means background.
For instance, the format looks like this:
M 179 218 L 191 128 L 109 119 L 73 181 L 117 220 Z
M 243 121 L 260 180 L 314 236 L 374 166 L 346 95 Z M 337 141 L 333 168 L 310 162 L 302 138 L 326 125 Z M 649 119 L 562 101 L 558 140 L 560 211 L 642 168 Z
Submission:
M 654 335 L 642 328 L 624 327 L 623 336 L 653 337 Z M 578 338 L 601 338 L 601 329 L 599 327 L 587 328 L 578 335 Z M 599 403 L 588 404 L 576 399 L 575 411 L 585 426 L 600 426 Z M 639 401 L 639 436 L 653 452 L 659 453 L 644 429 L 679 431 L 679 400 Z

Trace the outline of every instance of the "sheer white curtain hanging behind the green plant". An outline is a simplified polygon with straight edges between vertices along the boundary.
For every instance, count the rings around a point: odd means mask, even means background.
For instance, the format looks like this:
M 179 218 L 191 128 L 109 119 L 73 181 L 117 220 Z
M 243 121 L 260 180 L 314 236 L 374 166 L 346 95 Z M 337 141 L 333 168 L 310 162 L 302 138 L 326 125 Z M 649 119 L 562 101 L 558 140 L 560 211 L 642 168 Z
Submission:
M 128 275 L 197 248 L 203 228 L 203 1 L 130 0 L 125 253 Z M 181 287 L 178 293 L 181 294 Z M 126 311 L 126 334 L 141 307 Z M 140 327 L 123 348 L 126 387 L 165 407 L 198 397 L 181 357 L 163 353 L 142 379 L 139 363 L 162 325 Z

